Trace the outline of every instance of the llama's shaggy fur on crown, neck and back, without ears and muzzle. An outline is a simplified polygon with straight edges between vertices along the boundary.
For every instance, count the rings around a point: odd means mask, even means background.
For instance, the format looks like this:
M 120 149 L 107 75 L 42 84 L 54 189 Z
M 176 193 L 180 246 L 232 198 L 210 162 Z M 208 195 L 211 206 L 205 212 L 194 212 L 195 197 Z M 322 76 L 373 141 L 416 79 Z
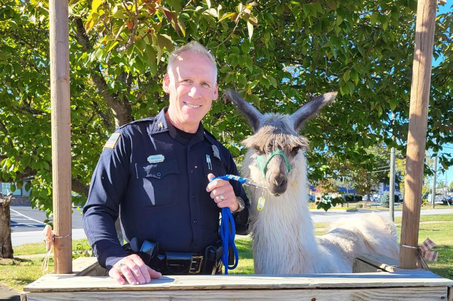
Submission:
M 295 146 L 307 148 L 308 141 L 295 133 L 290 116 L 265 114 L 257 133 L 247 138 L 244 144 L 249 151 L 242 165 L 242 174 L 265 184 L 255 163 L 255 149 L 269 152 L 278 147 L 288 152 Z M 255 273 L 350 273 L 352 260 L 358 254 L 380 253 L 398 257 L 395 226 L 378 215 L 356 215 L 344 223 L 337 223 L 328 234 L 315 237 L 308 210 L 307 163 L 303 151 L 291 158 L 291 165 L 293 169 L 287 178 L 286 191 L 275 196 L 266 190 L 263 211 L 256 209 L 262 190 L 250 189 Z

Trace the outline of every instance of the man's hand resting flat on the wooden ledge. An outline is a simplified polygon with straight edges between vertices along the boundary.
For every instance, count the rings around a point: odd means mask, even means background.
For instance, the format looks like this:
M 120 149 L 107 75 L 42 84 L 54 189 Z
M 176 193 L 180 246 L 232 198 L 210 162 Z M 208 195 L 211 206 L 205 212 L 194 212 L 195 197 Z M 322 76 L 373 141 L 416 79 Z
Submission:
M 159 279 L 162 274 L 156 272 L 141 260 L 137 254 L 122 258 L 110 269 L 109 276 L 119 284 L 144 284 L 152 278 Z

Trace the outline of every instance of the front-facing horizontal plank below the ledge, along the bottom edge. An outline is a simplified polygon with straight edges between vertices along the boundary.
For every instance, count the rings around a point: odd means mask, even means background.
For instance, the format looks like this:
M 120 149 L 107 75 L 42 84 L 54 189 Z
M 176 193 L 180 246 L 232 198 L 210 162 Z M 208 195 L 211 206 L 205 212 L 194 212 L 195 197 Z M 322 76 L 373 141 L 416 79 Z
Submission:
M 113 301 L 113 300 L 305 300 L 305 301 L 428 301 L 446 300 L 446 287 L 369 289 L 268 289 L 268 290 L 155 290 L 97 292 L 34 292 L 27 301 Z

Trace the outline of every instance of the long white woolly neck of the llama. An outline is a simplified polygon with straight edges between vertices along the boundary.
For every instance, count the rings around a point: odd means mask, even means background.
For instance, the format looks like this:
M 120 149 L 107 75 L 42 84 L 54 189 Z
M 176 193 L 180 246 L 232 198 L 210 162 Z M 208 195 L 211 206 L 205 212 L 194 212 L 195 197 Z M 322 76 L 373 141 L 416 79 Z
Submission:
M 243 173 L 256 180 L 259 170 L 253 162 L 254 155 L 249 152 Z M 305 260 L 319 254 L 308 210 L 305 156 L 297 155 L 293 163 L 287 190 L 280 196 L 271 195 L 266 190 L 262 211 L 256 209 L 262 189 L 250 189 L 255 273 L 301 273 L 304 269 L 305 273 L 316 272 L 314 263 Z

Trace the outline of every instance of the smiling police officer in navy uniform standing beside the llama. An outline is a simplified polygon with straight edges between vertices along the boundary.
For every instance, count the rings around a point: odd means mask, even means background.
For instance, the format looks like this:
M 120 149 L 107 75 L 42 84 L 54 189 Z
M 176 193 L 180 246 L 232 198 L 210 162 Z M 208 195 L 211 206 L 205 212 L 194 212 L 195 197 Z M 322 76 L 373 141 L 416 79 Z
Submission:
M 209 182 L 214 175 L 238 174 L 230 152 L 201 124 L 218 96 L 216 77 L 215 60 L 199 43 L 176 49 L 163 81 L 169 107 L 118 128 L 104 146 L 84 228 L 100 265 L 121 284 L 143 284 L 161 273 L 122 248 L 114 225 L 119 212 L 126 241 L 159 243 L 160 252 L 204 254 L 219 239 L 224 207 L 233 213 L 237 233 L 247 231 L 242 185 Z

